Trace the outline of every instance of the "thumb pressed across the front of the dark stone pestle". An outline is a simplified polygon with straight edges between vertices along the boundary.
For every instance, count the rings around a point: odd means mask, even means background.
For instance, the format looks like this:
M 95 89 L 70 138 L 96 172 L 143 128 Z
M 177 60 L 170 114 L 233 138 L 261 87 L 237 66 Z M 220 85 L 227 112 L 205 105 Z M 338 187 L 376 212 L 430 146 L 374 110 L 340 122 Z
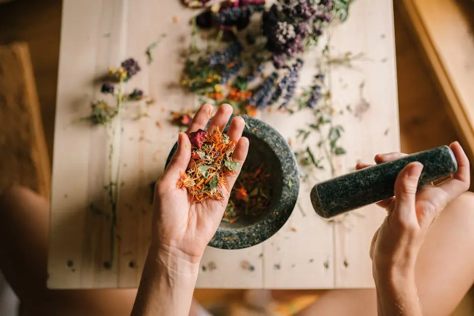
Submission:
M 423 164 L 420 162 L 409 163 L 395 180 L 395 207 L 392 214 L 400 223 L 418 224 L 415 201 L 422 170 Z

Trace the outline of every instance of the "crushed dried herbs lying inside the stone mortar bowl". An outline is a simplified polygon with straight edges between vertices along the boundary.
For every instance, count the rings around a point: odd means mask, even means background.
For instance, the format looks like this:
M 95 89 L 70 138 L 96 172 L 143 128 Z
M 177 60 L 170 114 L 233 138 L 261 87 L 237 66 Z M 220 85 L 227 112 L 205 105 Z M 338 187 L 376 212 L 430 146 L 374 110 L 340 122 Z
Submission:
M 258 168 L 244 165 L 237 182 L 232 188 L 225 208 L 223 221 L 233 223 L 243 215 L 260 215 L 270 207 L 272 186 L 270 174 Z

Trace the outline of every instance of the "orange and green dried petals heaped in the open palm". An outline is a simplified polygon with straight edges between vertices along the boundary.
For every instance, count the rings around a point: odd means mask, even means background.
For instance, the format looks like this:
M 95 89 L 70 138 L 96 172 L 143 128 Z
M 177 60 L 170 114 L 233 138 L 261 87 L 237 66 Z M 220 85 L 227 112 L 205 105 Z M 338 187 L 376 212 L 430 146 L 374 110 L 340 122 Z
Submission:
M 232 161 L 235 142 L 218 129 L 213 133 L 199 130 L 189 135 L 192 167 L 183 172 L 177 187 L 186 187 L 192 203 L 206 199 L 222 200 L 223 188 L 229 191 L 225 177 L 239 168 Z

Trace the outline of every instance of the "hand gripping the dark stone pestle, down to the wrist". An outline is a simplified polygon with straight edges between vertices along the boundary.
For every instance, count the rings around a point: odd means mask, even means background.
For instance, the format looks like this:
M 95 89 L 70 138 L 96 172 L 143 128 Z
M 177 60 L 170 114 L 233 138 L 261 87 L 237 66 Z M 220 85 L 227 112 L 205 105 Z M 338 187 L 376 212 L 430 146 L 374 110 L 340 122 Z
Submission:
M 377 203 L 387 210 L 387 217 L 375 232 L 370 247 L 374 279 L 378 275 L 395 273 L 412 278 L 414 265 L 425 235 L 440 212 L 469 188 L 469 161 L 459 143 L 450 145 L 458 170 L 439 185 L 426 185 L 417 192 L 423 170 L 412 162 L 398 174 L 395 197 Z M 375 156 L 377 164 L 397 159 L 405 154 L 390 153 Z M 357 169 L 368 165 L 358 164 Z

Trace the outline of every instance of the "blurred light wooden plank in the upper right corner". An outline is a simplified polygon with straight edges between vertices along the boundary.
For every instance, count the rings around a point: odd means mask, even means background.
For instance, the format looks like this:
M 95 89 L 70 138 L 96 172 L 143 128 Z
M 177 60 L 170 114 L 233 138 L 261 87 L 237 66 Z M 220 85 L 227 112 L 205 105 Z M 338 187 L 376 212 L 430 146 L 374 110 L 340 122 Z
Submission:
M 429 62 L 456 132 L 472 160 L 474 91 L 470 83 L 474 79 L 474 36 L 470 19 L 456 1 L 407 0 L 399 7 Z

